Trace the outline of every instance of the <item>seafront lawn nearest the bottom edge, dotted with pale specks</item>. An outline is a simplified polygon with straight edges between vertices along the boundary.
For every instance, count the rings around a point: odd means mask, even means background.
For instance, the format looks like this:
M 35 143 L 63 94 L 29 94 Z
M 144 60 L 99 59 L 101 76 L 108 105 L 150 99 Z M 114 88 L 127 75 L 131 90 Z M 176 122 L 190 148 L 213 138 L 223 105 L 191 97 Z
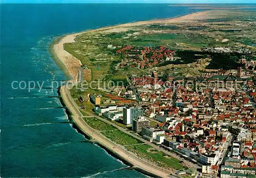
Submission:
M 139 158 L 155 162 L 161 167 L 172 167 L 174 169 L 184 168 L 179 160 L 165 155 L 163 152 L 153 149 L 150 145 L 126 146 L 129 151 L 134 152 Z

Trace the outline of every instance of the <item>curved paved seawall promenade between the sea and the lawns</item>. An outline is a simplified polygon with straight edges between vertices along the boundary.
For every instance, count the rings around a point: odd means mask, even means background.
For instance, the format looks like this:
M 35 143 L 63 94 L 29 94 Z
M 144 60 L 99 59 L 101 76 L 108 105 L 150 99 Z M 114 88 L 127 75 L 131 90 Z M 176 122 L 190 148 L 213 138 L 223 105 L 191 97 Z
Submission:
M 168 175 L 171 172 L 137 158 L 129 151 L 119 147 L 115 143 L 106 139 L 104 136 L 96 133 L 82 118 L 82 114 L 80 113 L 75 101 L 71 97 L 70 91 L 67 89 L 66 85 L 63 85 L 59 88 L 59 93 L 62 98 L 62 104 L 65 105 L 68 108 L 68 112 L 72 114 L 69 115 L 69 118 L 72 119 L 73 124 L 77 126 L 77 129 L 82 132 L 82 135 L 86 135 L 91 138 L 90 140 L 92 143 L 96 143 L 101 148 L 105 149 L 114 158 L 117 158 L 128 166 L 132 165 L 131 168 L 143 174 L 153 177 L 169 177 Z

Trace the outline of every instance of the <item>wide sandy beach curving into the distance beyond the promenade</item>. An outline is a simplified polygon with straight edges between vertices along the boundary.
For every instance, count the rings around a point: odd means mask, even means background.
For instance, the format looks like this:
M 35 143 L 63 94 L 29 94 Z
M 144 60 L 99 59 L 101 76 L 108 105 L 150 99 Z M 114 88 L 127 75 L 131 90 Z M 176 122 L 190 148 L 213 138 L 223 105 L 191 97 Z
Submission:
M 75 38 L 78 35 L 90 32 L 100 32 L 100 31 L 111 31 L 111 30 L 122 30 L 125 27 L 135 27 L 147 24 L 166 24 L 166 23 L 180 23 L 180 22 L 189 22 L 191 20 L 199 20 L 204 19 L 207 16 L 207 13 L 217 10 L 204 10 L 195 13 L 189 13 L 186 15 L 181 15 L 173 18 L 162 18 L 162 19 L 152 19 L 146 21 L 137 21 L 137 22 L 129 22 L 124 24 L 115 24 L 113 26 L 106 26 L 93 30 L 86 30 L 82 32 L 70 33 L 67 35 L 63 35 L 60 37 L 55 37 L 54 42 L 50 45 L 50 53 L 53 56 L 53 60 L 60 66 L 61 70 L 65 73 L 65 75 L 69 76 L 67 80 L 71 80 L 76 83 L 78 70 L 77 68 L 82 66 L 82 63 L 79 59 L 77 59 L 72 54 L 68 53 L 64 48 L 65 43 L 73 43 L 75 42 Z

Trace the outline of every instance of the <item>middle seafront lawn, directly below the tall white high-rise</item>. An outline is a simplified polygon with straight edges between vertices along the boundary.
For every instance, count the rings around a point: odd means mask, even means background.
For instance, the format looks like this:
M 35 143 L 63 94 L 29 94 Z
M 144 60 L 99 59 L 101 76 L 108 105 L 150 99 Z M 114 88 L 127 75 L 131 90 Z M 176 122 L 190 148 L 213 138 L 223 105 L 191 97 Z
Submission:
M 102 132 L 102 134 L 110 139 L 111 141 L 120 144 L 120 145 L 131 145 L 131 144 L 138 144 L 142 143 L 141 141 L 137 140 L 136 138 L 127 135 L 119 130 Z

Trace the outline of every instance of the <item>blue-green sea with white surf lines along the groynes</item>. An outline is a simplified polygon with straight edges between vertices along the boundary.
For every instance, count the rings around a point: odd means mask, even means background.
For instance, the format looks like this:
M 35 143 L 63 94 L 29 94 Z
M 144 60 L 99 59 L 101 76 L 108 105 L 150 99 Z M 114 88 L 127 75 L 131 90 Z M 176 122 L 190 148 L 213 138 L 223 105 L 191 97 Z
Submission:
M 1 177 L 146 177 L 123 169 L 129 166 L 73 129 L 51 85 L 66 76 L 49 45 L 68 33 L 199 11 L 168 4 L 1 4 Z

